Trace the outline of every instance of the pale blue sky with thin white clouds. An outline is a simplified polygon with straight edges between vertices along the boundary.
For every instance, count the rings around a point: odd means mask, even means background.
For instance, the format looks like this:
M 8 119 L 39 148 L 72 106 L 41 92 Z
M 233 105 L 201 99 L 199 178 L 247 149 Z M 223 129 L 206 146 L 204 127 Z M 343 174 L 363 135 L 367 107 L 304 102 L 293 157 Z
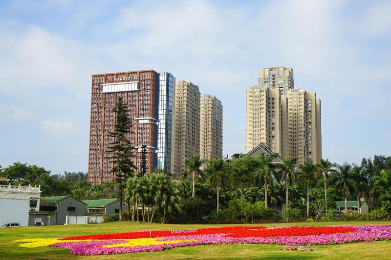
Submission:
M 322 102 L 322 154 L 391 155 L 391 1 L 0 1 L 0 165 L 87 172 L 91 75 L 153 69 L 223 105 L 245 151 L 258 70 L 294 70 Z

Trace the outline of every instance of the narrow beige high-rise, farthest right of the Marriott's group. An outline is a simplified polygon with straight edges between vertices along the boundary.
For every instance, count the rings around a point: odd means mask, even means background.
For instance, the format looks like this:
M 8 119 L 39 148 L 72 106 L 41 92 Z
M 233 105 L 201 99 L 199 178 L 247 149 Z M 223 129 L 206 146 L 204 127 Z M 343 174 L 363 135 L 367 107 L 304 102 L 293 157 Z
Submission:
M 200 120 L 200 158 L 204 160 L 222 158 L 223 106 L 221 101 L 215 96 L 202 96 Z

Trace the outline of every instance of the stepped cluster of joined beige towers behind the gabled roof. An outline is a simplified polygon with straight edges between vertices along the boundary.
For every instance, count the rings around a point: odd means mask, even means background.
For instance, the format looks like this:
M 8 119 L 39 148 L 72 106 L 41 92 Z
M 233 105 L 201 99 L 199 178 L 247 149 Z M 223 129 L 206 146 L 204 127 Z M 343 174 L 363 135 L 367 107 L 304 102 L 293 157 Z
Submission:
M 298 163 L 322 158 L 321 101 L 293 82 L 291 68 L 259 70 L 258 86 L 246 94 L 246 152 L 264 143 Z

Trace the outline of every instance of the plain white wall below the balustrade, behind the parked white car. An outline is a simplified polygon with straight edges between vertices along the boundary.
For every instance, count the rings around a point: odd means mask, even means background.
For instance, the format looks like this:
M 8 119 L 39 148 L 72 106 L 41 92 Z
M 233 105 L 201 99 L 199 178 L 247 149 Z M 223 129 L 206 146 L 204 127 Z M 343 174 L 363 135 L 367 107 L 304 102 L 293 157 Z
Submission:
M 0 199 L 0 226 L 8 222 L 18 222 L 28 226 L 30 200 Z

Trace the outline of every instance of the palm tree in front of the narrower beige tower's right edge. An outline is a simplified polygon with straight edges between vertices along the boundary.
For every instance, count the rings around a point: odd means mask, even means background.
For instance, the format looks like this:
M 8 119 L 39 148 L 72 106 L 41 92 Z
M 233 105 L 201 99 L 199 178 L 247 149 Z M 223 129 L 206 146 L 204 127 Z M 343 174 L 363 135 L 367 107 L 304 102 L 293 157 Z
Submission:
M 208 168 L 206 170 L 206 180 L 209 185 L 212 185 L 217 193 L 217 211 L 218 215 L 218 206 L 220 199 L 220 184 L 222 184 L 226 178 L 226 165 L 222 158 L 216 158 L 215 160 L 209 161 L 207 163 Z

